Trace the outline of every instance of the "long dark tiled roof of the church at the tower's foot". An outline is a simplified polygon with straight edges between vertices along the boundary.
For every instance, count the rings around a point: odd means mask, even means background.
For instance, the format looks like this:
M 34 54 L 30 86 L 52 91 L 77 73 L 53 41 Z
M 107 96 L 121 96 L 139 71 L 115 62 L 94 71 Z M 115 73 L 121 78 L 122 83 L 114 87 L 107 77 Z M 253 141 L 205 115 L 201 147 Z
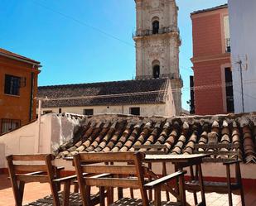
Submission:
M 141 79 L 38 88 L 42 108 L 165 103 L 169 79 Z

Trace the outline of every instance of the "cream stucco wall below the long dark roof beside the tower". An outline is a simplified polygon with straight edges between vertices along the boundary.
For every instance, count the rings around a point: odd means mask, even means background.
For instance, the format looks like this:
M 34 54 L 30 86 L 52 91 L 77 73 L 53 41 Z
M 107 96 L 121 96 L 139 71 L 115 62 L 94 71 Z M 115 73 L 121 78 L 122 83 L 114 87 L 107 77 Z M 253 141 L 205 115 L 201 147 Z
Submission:
M 169 93 L 168 103 L 162 104 L 134 104 L 134 105 L 120 105 L 120 106 L 91 106 L 91 107 L 68 107 L 61 108 L 61 113 L 77 113 L 83 114 L 84 109 L 94 109 L 94 114 L 101 113 L 120 113 L 129 114 L 130 108 L 140 108 L 141 116 L 165 116 L 171 117 L 176 114 L 175 106 L 171 100 L 172 94 Z M 42 111 L 52 111 L 59 113 L 59 108 L 43 108 Z

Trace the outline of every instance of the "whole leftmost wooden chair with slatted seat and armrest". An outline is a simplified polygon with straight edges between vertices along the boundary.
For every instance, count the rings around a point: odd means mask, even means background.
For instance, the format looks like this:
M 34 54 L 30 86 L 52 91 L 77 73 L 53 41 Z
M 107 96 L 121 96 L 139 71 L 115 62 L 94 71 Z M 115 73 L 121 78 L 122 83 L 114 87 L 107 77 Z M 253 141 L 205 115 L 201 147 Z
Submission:
M 38 199 L 28 205 L 44 205 L 44 206 L 60 206 L 81 205 L 80 194 L 70 194 L 70 184 L 76 180 L 76 175 L 60 178 L 60 170 L 51 164 L 54 160 L 52 155 L 12 155 L 7 156 L 7 165 L 10 179 L 12 182 L 12 191 L 17 206 L 22 206 L 24 186 L 30 182 L 49 183 L 51 187 L 51 195 L 43 199 Z M 63 194 L 58 193 L 60 184 L 64 184 Z M 32 191 L 31 191 L 32 192 Z M 99 203 L 99 195 L 94 195 L 92 199 Z

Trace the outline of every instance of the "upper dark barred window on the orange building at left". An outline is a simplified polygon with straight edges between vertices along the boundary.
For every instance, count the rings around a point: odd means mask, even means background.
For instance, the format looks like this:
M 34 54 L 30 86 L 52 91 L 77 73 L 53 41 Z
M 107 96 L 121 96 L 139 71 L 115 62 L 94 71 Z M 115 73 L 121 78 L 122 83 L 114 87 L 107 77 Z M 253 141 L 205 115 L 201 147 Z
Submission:
M 5 74 L 4 93 L 20 95 L 21 78 Z

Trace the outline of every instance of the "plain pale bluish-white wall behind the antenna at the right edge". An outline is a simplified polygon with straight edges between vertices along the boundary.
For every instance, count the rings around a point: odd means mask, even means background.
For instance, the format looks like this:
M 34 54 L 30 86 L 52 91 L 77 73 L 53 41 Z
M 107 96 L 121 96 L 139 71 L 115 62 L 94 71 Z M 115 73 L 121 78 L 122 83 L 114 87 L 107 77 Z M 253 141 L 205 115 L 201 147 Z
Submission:
M 233 65 L 234 111 L 242 112 L 238 60 L 243 60 L 245 112 L 256 111 L 256 1 L 229 0 L 229 25 Z M 248 68 L 246 69 L 246 56 Z

